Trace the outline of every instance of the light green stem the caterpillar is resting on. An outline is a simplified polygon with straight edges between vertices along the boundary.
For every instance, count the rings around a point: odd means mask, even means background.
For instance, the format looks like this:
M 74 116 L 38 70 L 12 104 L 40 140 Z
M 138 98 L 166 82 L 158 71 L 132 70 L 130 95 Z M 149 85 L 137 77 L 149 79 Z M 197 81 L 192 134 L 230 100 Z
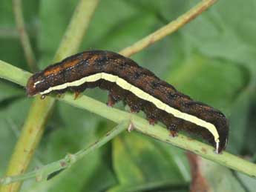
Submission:
M 13 66 L 10 64 L 6 64 L 5 62 L 0 61 L 0 68 L 4 67 L 4 70 L 13 70 Z M 14 70 L 17 70 L 14 67 Z M 19 72 L 25 73 L 24 78 L 27 72 Z M 1 71 L 0 71 L 1 76 Z M 18 76 L 8 76 L 8 79 L 12 82 L 19 82 Z M 19 85 L 24 86 L 24 83 L 27 79 L 22 79 Z M 210 145 L 206 145 L 197 140 L 191 139 L 183 134 L 179 134 L 177 137 L 170 137 L 168 130 L 161 127 L 160 125 L 151 126 L 145 119 L 134 115 L 132 113 L 128 113 L 122 110 L 118 110 L 116 108 L 111 108 L 105 105 L 102 102 L 96 101 L 95 99 L 91 99 L 88 96 L 80 96 L 78 99 L 73 99 L 73 94 L 66 93 L 64 97 L 59 98 L 60 101 L 66 102 L 69 105 L 73 105 L 74 107 L 79 107 L 85 110 L 89 110 L 92 113 L 96 113 L 99 116 L 103 116 L 106 119 L 109 119 L 117 124 L 125 121 L 130 121 L 134 125 L 135 130 L 144 133 L 145 135 L 154 137 L 162 142 L 167 142 L 171 145 L 175 145 L 179 148 L 183 148 L 186 150 L 190 150 L 193 153 L 197 153 L 200 156 L 203 156 L 206 159 L 212 160 L 213 162 L 217 162 L 221 165 L 224 165 L 228 168 L 232 168 L 235 171 L 240 171 L 241 173 L 245 173 L 246 175 L 256 177 L 256 165 L 252 162 L 248 162 L 245 159 L 242 159 L 238 156 L 234 156 L 226 151 L 223 154 L 214 153 L 214 148 Z

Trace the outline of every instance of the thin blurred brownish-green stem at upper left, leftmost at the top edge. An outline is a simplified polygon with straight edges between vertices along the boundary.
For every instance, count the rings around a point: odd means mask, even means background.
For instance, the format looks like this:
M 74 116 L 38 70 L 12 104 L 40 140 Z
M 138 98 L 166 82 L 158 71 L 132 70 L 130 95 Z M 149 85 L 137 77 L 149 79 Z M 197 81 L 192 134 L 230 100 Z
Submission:
M 24 50 L 25 58 L 27 60 L 27 64 L 30 67 L 30 70 L 36 71 L 36 59 L 30 44 L 30 39 L 27 36 L 27 31 L 24 24 L 24 17 L 22 14 L 22 0 L 13 0 L 13 13 L 19 31 L 19 39 L 22 42 L 22 47 Z

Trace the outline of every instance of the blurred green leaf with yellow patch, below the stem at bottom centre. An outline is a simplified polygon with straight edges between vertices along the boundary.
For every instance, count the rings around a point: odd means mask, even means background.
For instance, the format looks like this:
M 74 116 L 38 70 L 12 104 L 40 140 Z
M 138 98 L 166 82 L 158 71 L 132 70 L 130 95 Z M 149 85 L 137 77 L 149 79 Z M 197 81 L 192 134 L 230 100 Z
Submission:
M 189 177 L 182 156 L 177 148 L 138 133 L 118 136 L 113 143 L 114 171 L 119 186 L 134 188 L 143 184 L 148 190 L 147 186 L 166 185 L 166 181 L 172 186 L 186 185 Z

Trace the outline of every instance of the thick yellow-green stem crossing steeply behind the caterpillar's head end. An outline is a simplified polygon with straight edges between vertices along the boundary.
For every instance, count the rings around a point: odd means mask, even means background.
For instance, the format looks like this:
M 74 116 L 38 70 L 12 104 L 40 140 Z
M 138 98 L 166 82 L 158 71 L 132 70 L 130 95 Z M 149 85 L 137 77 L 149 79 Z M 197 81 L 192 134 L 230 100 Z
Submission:
M 85 30 L 88 27 L 88 21 L 90 21 L 97 4 L 97 0 L 79 1 L 53 62 L 59 62 L 59 60 L 64 59 L 66 56 L 69 56 L 78 50 L 82 36 L 84 36 Z M 22 73 L 14 74 L 16 76 L 22 76 Z M 12 76 L 10 73 L 8 75 Z M 5 74 L 4 76 L 7 75 Z M 42 133 L 45 128 L 44 125 L 47 122 L 47 116 L 49 116 L 50 111 L 53 109 L 53 104 L 54 99 L 50 97 L 42 100 L 38 96 L 33 100 L 33 104 L 30 107 L 30 113 L 22 128 L 21 136 L 19 136 L 19 140 L 11 156 L 7 168 L 7 176 L 19 175 L 27 170 L 27 166 L 33 156 L 33 151 L 36 149 L 37 144 L 42 138 Z M 30 133 L 31 129 L 33 129 L 32 133 Z M 4 185 L 4 187 L 1 187 L 0 191 L 19 191 L 20 185 L 21 182 Z

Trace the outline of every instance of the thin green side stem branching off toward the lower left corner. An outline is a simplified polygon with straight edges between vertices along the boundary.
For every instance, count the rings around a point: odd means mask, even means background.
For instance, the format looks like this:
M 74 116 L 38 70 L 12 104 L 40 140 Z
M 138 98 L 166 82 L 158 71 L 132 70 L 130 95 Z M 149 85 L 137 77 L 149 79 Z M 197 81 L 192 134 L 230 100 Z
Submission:
M 50 176 L 50 174 L 56 173 L 56 171 L 61 171 L 65 168 L 70 167 L 75 162 L 77 162 L 79 159 L 82 159 L 82 157 L 84 157 L 86 154 L 91 153 L 93 150 L 96 150 L 97 148 L 100 148 L 102 145 L 105 145 L 105 143 L 109 142 L 111 139 L 113 139 L 115 136 L 117 136 L 123 130 L 128 128 L 128 126 L 129 126 L 129 121 L 121 122 L 119 125 L 117 125 L 115 128 L 113 128 L 111 131 L 106 133 L 105 136 L 102 137 L 102 139 L 99 139 L 98 141 L 94 142 L 89 147 L 79 150 L 75 154 L 68 154 L 67 156 L 65 156 L 64 159 L 60 159 L 59 161 L 52 162 L 48 165 L 43 166 L 42 168 L 38 168 L 34 171 L 30 171 L 29 173 L 24 173 L 19 176 L 4 177 L 4 178 L 0 179 L 0 184 L 7 185 L 12 182 L 21 182 L 25 179 L 30 179 L 33 177 L 36 177 L 37 180 L 47 179 L 48 176 Z

